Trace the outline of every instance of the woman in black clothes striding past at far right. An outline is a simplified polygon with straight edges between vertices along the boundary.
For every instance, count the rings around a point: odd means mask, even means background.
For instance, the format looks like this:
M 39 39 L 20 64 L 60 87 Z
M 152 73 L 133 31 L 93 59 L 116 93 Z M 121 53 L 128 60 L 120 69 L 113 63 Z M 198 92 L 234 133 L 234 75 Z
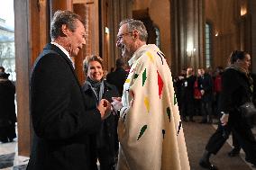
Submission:
M 230 132 L 239 142 L 245 152 L 245 160 L 256 166 L 256 139 L 247 119 L 239 111 L 239 106 L 251 100 L 252 79 L 248 68 L 251 57 L 244 51 L 233 51 L 230 57 L 230 65 L 225 68 L 222 75 L 222 91 L 220 94 L 220 112 L 222 113 L 217 130 L 209 139 L 203 157 L 199 165 L 207 169 L 215 170 L 209 158 L 223 147 Z

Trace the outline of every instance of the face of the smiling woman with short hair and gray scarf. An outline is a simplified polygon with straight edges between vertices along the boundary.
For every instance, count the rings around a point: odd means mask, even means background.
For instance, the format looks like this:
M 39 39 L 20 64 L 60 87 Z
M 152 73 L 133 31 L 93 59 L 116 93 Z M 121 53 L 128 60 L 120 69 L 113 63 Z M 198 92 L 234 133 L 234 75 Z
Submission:
M 91 61 L 88 64 L 88 70 L 87 70 L 87 76 L 95 81 L 99 82 L 101 81 L 102 77 L 104 75 L 104 70 L 101 64 L 98 61 Z

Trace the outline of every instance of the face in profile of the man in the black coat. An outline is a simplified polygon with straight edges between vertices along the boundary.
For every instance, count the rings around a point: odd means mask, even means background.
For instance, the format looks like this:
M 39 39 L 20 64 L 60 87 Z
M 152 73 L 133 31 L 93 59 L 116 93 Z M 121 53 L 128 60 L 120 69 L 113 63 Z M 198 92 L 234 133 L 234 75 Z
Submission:
M 82 22 L 76 22 L 77 29 L 75 31 L 68 31 L 68 51 L 71 57 L 78 56 L 78 52 L 86 44 L 86 30 Z

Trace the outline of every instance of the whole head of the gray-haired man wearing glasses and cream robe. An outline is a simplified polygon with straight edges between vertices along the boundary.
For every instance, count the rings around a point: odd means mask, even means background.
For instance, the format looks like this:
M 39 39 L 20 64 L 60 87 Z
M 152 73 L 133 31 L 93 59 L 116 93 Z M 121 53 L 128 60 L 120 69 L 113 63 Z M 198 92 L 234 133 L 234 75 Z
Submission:
M 122 56 L 131 58 L 134 52 L 146 44 L 148 32 L 139 20 L 123 20 L 117 33 L 116 47 L 122 50 Z

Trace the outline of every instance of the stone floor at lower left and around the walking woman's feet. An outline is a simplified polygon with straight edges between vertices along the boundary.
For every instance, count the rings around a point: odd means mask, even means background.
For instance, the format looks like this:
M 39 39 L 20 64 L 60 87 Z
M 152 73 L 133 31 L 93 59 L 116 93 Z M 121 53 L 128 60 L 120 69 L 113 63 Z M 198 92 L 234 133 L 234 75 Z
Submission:
M 201 124 L 200 117 L 196 122 L 183 122 L 185 139 L 187 143 L 187 154 L 191 170 L 204 170 L 198 165 L 203 154 L 207 140 L 215 132 L 215 124 Z M 253 129 L 256 136 L 256 128 Z M 220 152 L 211 157 L 211 161 L 218 166 L 219 170 L 256 170 L 251 164 L 244 160 L 244 153 L 240 157 L 228 157 L 227 153 L 232 149 L 232 139 L 224 144 Z M 17 139 L 11 143 L 0 142 L 0 170 L 25 170 L 29 157 L 17 156 Z

